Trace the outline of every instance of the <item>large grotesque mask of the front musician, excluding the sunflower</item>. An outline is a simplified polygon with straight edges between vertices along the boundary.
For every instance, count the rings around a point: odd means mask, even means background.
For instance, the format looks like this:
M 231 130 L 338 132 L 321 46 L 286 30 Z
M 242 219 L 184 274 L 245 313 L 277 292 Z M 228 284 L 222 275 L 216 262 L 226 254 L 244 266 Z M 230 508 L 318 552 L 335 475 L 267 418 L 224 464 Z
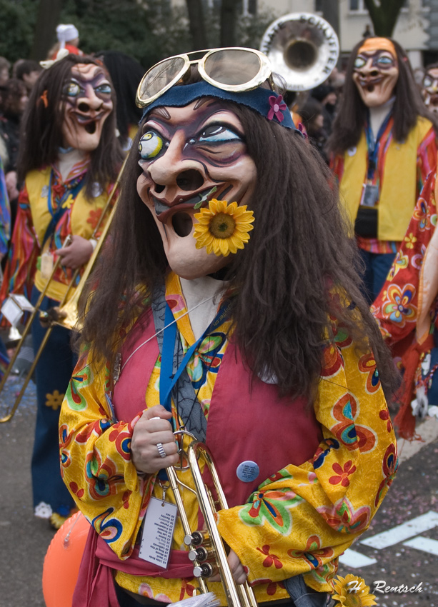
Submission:
M 195 279 L 227 265 L 230 256 L 197 249 L 193 234 L 201 201 L 242 206 L 254 191 L 256 167 L 229 105 L 204 97 L 184 107 L 153 109 L 142 126 L 139 165 L 137 190 L 158 226 L 171 269 Z

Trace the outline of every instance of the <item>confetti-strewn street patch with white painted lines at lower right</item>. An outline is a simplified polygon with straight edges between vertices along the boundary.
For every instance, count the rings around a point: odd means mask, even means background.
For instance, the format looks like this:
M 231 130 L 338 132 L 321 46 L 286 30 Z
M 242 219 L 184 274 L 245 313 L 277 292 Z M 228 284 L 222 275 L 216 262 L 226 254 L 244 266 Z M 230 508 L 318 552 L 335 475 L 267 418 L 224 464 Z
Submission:
M 347 551 L 339 567 L 342 576 L 364 578 L 371 591 L 374 581 L 392 588 L 422 583 L 422 592 L 374 592 L 379 607 L 438 607 L 437 419 L 425 421 L 419 433 L 429 444 L 399 441 L 401 463 L 394 483 L 371 527 L 352 546 L 354 553 Z M 358 567 L 361 556 L 365 564 Z

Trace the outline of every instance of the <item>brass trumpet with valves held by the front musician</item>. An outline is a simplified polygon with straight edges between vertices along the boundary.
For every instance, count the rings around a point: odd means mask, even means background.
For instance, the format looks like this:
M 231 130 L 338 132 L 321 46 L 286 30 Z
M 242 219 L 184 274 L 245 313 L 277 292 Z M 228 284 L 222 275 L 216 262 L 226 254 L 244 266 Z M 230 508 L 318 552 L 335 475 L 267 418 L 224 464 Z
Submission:
M 249 586 L 249 583 L 246 581 L 243 584 L 237 584 L 234 581 L 232 571 L 229 568 L 224 541 L 216 526 L 216 513 L 219 510 L 226 510 L 228 504 L 211 453 L 204 443 L 196 441 L 196 438 L 189 432 L 176 431 L 174 434 L 186 434 L 191 436 L 191 438 L 194 438 L 194 441 L 189 444 L 184 455 L 187 458 L 187 467 L 190 469 L 196 491 L 179 480 L 176 473 L 177 468 L 175 466 L 169 466 L 169 468 L 166 468 L 166 471 L 184 529 L 184 543 L 189 547 L 189 559 L 194 565 L 193 573 L 199 581 L 199 591 L 201 591 L 201 593 L 208 592 L 209 589 L 206 578 L 219 573 L 227 598 L 228 607 L 257 607 L 254 591 Z M 210 488 L 204 484 L 199 468 L 199 458 L 203 458 L 205 465 L 209 469 L 216 496 L 214 496 Z M 182 470 L 186 468 L 184 468 L 181 463 L 181 467 L 178 469 Z M 189 491 L 194 491 L 194 493 L 196 493 L 199 508 L 201 508 L 201 513 L 204 516 L 206 527 L 204 530 L 191 531 L 189 519 L 186 515 L 181 493 L 179 491 L 180 485 L 189 489 Z M 219 506 L 219 508 L 217 506 Z

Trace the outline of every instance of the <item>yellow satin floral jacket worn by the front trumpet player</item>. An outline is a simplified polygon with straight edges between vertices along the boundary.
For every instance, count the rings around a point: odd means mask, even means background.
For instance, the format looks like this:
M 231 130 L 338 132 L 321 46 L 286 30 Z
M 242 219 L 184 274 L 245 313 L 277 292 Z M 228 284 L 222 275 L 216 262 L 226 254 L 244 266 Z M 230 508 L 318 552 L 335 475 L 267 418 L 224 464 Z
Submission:
M 166 284 L 166 299 L 178 303 L 178 311 L 173 312 L 186 351 L 194 336 L 188 316 L 181 317 L 186 304 L 179 280 L 172 275 Z M 229 343 L 227 325 L 220 331 L 224 339 L 214 342 L 206 337 L 188 364 L 192 383 L 201 381 L 199 401 L 207 419 L 209 396 Z M 334 334 L 334 343 L 324 351 L 314 401 L 322 429 L 322 441 L 314 455 L 300 466 L 291 464 L 276 471 L 247 503 L 219 513 L 219 531 L 247 566 L 259 602 L 287 598 L 283 581 L 299 573 L 304 574 L 308 586 L 331 592 L 337 557 L 367 529 L 397 469 L 394 431 L 374 357 L 369 352 L 360 355 L 335 322 Z M 202 358 L 209 348 L 214 348 L 216 362 L 202 378 Z M 139 541 L 151 496 L 161 499 L 162 489 L 154 475 L 139 475 L 131 461 L 129 445 L 139 416 L 114 420 L 106 398 L 111 381 L 109 363 L 100 371 L 90 363 L 89 349 L 85 348 L 61 409 L 61 472 L 86 518 L 124 560 Z M 144 408 L 159 403 L 160 364 L 158 356 L 147 383 Z M 238 391 L 239 386 L 237 395 Z M 173 413 L 176 418 L 174 409 Z M 279 441 L 286 442 L 288 428 L 272 417 L 267 403 L 266 423 L 275 423 Z M 242 440 L 244 433 L 242 428 Z M 181 480 L 192 486 L 188 475 L 182 473 Z M 182 496 L 196 529 L 194 497 L 184 489 Z M 166 501 L 174 501 L 171 491 L 166 492 Z M 184 549 L 183 538 L 177 521 L 173 548 Z M 116 581 L 134 593 L 164 602 L 187 598 L 196 586 L 195 578 L 151 578 L 121 571 L 116 572 Z M 220 584 L 210 586 L 226 604 Z

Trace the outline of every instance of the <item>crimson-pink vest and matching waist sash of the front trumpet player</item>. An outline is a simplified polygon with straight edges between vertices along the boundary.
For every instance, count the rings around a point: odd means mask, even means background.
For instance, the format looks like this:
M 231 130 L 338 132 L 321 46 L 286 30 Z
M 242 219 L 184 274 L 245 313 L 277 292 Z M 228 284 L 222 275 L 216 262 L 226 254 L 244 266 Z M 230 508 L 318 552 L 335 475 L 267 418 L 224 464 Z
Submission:
M 130 421 L 144 411 L 146 388 L 159 355 L 151 310 L 146 311 L 126 338 L 121 364 L 151 338 L 126 364 L 114 388 L 114 410 L 119 420 Z M 229 506 L 246 503 L 250 494 L 272 474 L 312 458 L 322 438 L 314 412 L 303 399 L 279 398 L 277 387 L 254 378 L 244 367 L 239 351 L 229 343 L 214 385 L 209 408 L 206 444 L 214 457 Z M 237 477 L 239 463 L 254 461 L 259 475 L 251 483 Z M 201 523 L 201 521 L 199 521 Z M 201 527 L 199 527 L 201 528 Z M 172 550 L 169 565 L 161 567 L 138 557 L 138 547 L 119 561 L 108 544 L 90 529 L 78 583 L 75 607 L 116 607 L 112 569 L 131 575 L 164 578 L 191 577 L 193 563 L 186 551 Z

